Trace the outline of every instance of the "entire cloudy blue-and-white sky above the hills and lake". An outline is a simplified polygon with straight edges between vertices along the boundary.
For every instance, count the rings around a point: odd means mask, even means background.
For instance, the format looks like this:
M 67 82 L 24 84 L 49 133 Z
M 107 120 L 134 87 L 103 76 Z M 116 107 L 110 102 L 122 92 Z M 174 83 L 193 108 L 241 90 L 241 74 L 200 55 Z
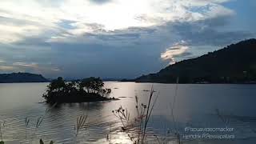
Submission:
M 136 78 L 256 36 L 255 0 L 1 0 L 0 73 Z

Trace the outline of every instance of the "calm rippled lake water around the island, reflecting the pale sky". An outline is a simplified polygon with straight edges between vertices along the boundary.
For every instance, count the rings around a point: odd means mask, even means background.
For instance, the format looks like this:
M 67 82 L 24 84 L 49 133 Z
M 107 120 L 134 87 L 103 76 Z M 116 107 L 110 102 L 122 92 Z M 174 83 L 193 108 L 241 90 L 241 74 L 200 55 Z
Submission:
M 42 94 L 48 83 L 0 84 L 0 122 L 2 138 L 8 142 L 38 143 L 42 138 L 55 143 L 132 143 L 120 130 L 121 122 L 112 114 L 119 106 L 135 114 L 135 98 L 146 103 L 151 86 L 159 95 L 154 106 L 149 126 L 149 143 L 164 138 L 175 143 L 178 131 L 183 143 L 256 143 L 256 85 L 178 85 L 134 82 L 105 82 L 112 89 L 110 97 L 119 98 L 112 102 L 90 102 L 62 104 L 45 114 L 50 106 L 42 103 Z M 175 101 L 175 102 L 174 102 Z M 174 103 L 174 117 L 171 107 Z M 217 112 L 217 109 L 219 113 Z M 37 118 L 45 114 L 42 125 L 35 129 Z M 81 114 L 88 114 L 89 125 L 75 137 L 74 124 Z M 30 118 L 26 128 L 25 118 Z M 233 128 L 229 132 L 188 132 L 190 128 Z M 234 138 L 193 138 L 195 134 L 233 135 Z M 190 137 L 190 138 L 188 138 Z M 27 142 L 28 143 L 28 142 Z

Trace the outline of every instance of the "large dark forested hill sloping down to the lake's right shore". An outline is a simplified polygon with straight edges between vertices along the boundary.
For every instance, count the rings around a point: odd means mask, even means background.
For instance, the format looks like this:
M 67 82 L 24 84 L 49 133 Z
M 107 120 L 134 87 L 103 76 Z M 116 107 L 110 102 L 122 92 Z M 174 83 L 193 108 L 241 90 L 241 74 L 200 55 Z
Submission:
M 256 83 L 256 39 L 248 39 L 198 58 L 176 62 L 135 82 Z

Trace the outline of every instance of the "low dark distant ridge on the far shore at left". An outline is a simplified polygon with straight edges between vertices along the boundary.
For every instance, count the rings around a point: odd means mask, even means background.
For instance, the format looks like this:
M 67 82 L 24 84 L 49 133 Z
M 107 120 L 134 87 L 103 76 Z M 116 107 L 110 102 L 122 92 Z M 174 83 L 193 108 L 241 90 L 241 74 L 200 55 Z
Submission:
M 15 83 L 15 82 L 49 82 L 41 74 L 30 73 L 11 73 L 0 74 L 0 83 Z

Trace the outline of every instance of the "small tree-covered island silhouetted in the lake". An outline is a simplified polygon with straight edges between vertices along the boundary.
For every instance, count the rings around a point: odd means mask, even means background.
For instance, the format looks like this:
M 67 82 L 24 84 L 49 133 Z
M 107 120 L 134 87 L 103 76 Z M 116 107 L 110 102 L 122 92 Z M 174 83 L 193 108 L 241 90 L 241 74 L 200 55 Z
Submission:
M 101 78 L 84 78 L 74 82 L 65 82 L 63 78 L 54 79 L 47 86 L 46 103 L 98 102 L 109 101 L 111 89 L 106 89 Z

